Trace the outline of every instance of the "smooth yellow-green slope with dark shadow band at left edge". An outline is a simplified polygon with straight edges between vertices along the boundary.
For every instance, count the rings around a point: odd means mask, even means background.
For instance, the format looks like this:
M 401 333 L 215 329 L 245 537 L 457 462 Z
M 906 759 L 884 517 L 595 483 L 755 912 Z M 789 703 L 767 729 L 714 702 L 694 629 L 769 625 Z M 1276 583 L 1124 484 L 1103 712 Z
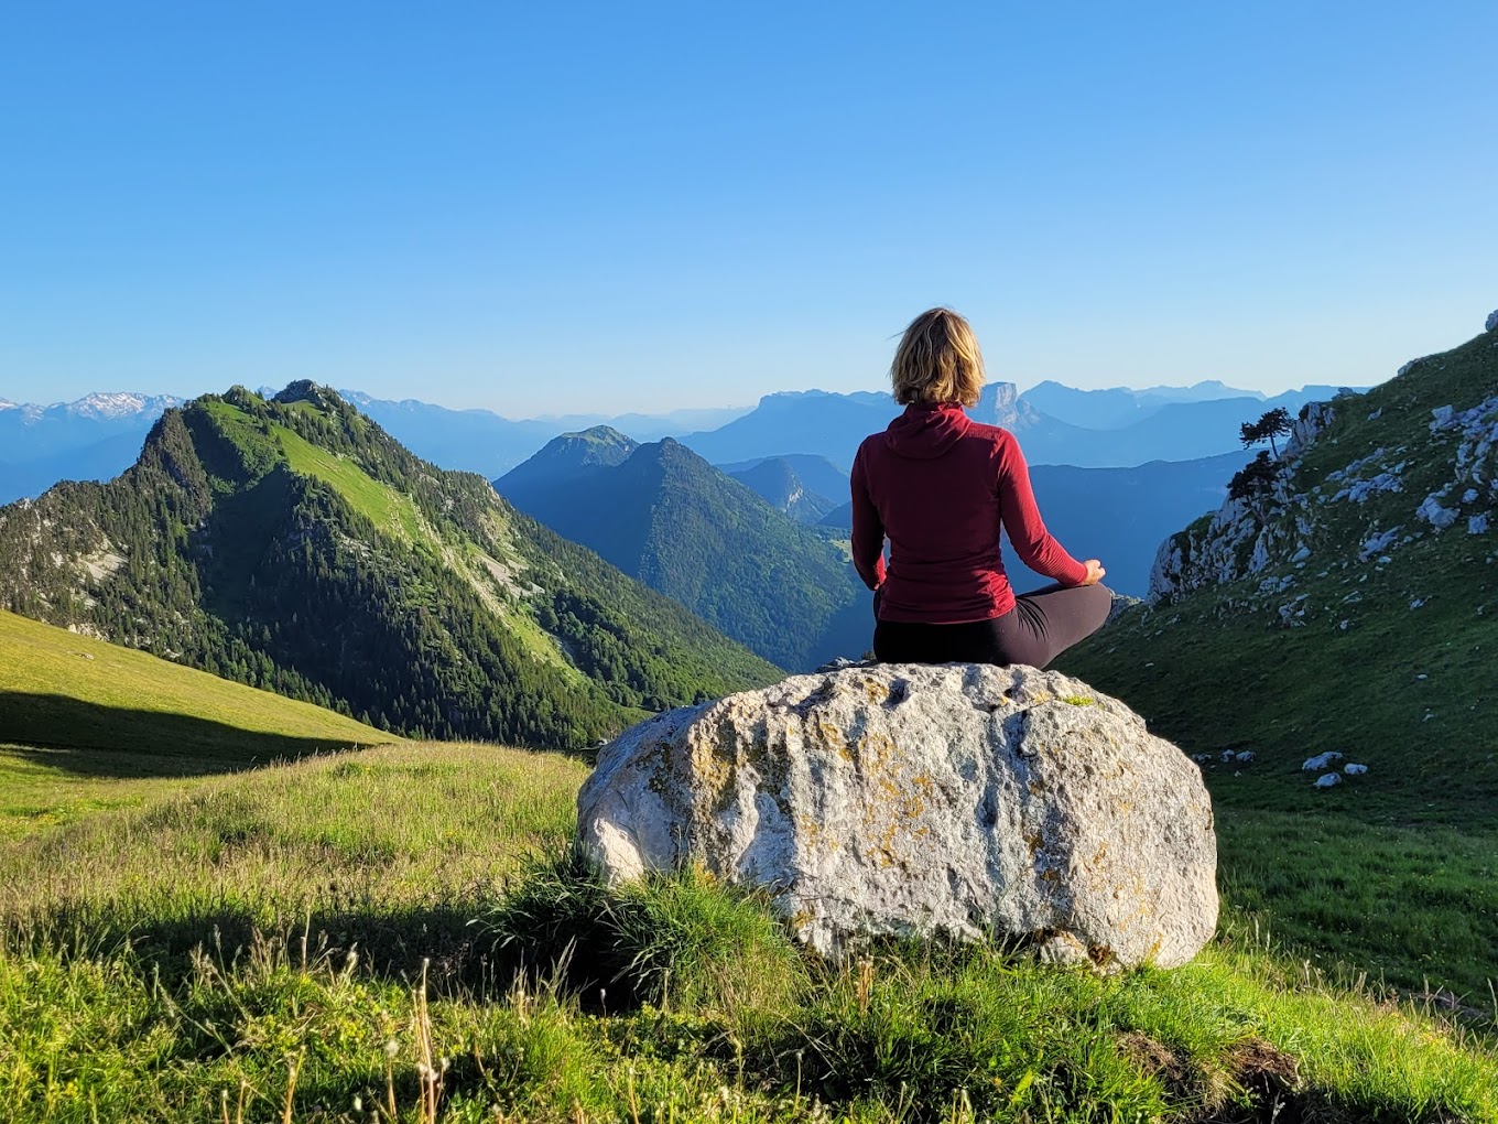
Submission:
M 159 794 L 130 778 L 391 740 L 309 703 L 0 611 L 0 838 Z

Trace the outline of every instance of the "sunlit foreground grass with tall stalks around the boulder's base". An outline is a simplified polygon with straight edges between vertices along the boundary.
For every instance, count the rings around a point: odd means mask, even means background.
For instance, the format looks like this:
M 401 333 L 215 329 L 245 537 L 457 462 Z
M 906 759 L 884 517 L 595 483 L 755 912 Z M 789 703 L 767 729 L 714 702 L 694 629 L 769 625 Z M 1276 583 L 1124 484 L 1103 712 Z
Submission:
M 538 857 L 583 775 L 382 746 L 0 841 L 0 1118 L 1498 1121 L 1486 1031 L 1243 934 L 839 968 L 698 877 L 605 890 Z

